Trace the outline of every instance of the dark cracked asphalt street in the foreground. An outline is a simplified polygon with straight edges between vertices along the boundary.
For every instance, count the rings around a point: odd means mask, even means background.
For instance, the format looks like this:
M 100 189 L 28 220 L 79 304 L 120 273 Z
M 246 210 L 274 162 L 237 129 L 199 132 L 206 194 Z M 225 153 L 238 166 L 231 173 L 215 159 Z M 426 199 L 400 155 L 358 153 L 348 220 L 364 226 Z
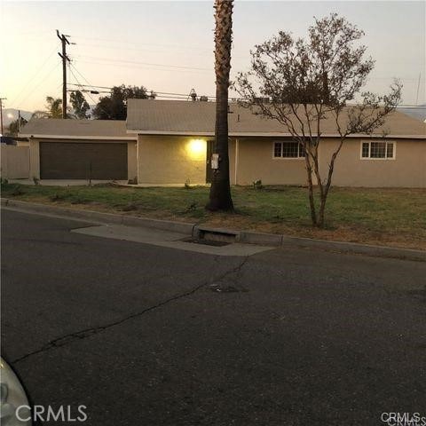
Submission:
M 96 426 L 426 416 L 425 263 L 212 256 L 84 226 L 2 211 L 2 354 L 34 404 Z

